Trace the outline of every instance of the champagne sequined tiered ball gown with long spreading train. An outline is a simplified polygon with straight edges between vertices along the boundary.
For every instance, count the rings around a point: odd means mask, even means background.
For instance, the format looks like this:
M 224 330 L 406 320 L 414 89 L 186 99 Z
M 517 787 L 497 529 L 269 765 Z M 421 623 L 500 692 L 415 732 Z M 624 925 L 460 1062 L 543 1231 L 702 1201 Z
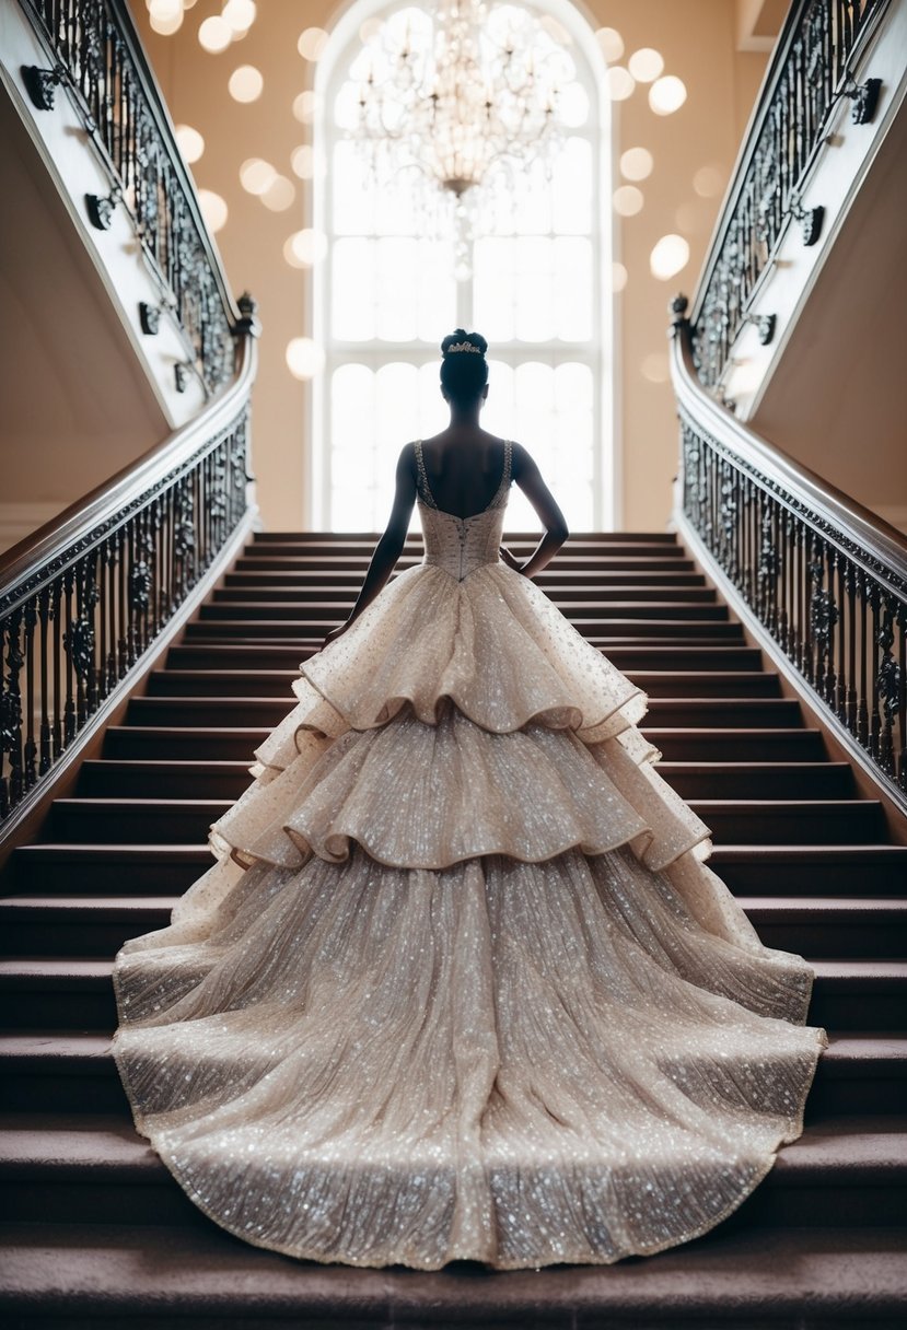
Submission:
M 420 450 L 418 450 L 422 462 Z M 645 697 L 420 471 L 424 561 L 301 666 L 211 868 L 114 963 L 138 1132 L 314 1261 L 609 1264 L 802 1132 L 813 971 L 653 770 Z

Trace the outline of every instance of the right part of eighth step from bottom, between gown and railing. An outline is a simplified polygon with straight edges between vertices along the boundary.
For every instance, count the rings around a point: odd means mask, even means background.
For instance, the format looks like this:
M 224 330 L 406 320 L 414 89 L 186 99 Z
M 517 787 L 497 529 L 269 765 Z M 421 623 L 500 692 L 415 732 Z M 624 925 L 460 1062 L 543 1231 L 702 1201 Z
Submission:
M 854 793 L 847 762 L 658 762 L 682 799 L 834 799 Z

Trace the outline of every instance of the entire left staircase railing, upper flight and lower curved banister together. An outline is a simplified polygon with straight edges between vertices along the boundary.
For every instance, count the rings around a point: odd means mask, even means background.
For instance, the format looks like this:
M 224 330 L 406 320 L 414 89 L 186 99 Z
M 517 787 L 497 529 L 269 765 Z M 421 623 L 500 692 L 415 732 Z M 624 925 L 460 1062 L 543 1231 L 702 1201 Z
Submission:
M 21 0 L 49 53 L 23 70 L 36 105 L 57 85 L 105 161 L 185 339 L 205 410 L 0 559 L 0 835 L 141 668 L 193 588 L 251 524 L 254 302 L 234 305 L 125 4 Z M 184 613 L 186 610 L 184 609 Z

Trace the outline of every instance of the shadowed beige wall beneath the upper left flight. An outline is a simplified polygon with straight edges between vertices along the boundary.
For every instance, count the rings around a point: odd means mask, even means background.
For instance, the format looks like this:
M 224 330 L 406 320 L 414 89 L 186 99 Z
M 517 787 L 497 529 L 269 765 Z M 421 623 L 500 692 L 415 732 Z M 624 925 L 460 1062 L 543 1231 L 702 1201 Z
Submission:
M 0 544 L 5 545 L 160 443 L 169 427 L 3 88 L 0 142 Z

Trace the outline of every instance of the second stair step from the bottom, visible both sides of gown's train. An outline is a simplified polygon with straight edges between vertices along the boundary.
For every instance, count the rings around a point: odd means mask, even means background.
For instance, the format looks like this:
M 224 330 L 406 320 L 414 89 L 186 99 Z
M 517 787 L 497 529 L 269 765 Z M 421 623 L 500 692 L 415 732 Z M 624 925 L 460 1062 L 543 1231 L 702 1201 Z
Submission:
M 894 1225 L 907 1212 L 902 1117 L 841 1117 L 806 1128 L 781 1149 L 735 1226 Z M 7 1221 L 186 1225 L 210 1220 L 188 1198 L 150 1142 L 125 1119 L 0 1115 L 0 1185 Z

